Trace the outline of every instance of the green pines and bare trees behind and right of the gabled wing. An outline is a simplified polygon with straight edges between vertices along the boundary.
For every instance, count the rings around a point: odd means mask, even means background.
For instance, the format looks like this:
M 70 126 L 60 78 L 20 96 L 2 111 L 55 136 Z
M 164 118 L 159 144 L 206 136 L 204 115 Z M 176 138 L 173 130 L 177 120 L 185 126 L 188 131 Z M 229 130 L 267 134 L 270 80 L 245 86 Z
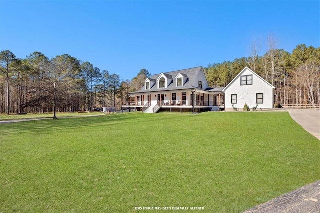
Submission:
M 204 68 L 209 86 L 226 86 L 248 66 L 275 86 L 276 105 L 320 104 L 320 48 L 300 44 L 289 53 L 274 48 L 272 40 L 269 43 L 263 56 L 254 43 L 249 57 L 209 64 Z

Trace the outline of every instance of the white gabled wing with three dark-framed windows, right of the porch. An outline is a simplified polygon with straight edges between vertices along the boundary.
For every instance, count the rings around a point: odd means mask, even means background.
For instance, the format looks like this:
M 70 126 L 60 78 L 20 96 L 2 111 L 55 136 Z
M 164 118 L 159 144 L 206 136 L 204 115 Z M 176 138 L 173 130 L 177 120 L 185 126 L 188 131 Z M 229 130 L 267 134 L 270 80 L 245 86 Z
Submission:
M 243 108 L 246 103 L 252 110 L 257 108 L 273 107 L 273 89 L 270 83 L 265 81 L 248 67 L 245 67 L 224 89 L 225 108 Z

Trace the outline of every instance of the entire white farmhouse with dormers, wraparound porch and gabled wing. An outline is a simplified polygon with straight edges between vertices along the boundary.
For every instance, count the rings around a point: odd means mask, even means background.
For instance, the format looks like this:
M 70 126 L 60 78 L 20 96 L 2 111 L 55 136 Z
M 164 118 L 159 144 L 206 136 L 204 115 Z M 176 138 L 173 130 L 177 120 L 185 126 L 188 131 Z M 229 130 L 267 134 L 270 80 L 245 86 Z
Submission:
M 245 67 L 225 88 L 209 88 L 202 66 L 152 75 L 144 86 L 129 93 L 129 101 L 122 108 L 142 112 L 188 112 L 232 110 L 243 108 L 272 108 L 273 89 L 259 75 Z

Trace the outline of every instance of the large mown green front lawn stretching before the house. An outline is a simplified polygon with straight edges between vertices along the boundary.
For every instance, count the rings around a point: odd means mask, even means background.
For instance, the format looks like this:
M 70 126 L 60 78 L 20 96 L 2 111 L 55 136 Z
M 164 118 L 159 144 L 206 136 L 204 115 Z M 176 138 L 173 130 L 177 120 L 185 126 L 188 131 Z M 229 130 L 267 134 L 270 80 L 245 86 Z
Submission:
M 241 212 L 320 179 L 320 142 L 287 112 L 49 119 L 0 137 L 1 212 Z

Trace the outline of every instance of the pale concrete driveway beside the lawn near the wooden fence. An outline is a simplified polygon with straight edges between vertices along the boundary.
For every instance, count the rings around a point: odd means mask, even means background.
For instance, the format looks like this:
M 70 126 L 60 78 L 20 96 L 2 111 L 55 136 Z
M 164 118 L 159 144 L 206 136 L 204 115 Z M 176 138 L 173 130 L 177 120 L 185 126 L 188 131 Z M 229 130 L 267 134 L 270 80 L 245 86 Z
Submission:
M 320 140 L 320 110 L 286 109 L 292 119 Z

